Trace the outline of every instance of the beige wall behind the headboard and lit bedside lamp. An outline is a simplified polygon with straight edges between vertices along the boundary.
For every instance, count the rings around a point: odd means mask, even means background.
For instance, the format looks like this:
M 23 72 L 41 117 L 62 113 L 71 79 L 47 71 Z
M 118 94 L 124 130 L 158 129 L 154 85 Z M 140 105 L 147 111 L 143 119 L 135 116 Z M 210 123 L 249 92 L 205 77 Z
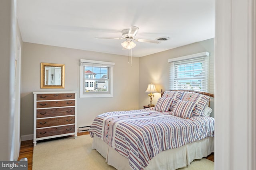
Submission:
M 148 93 L 145 93 L 148 84 L 155 84 L 156 90 L 159 92 L 154 94 L 155 97 L 153 98 L 152 104 L 156 104 L 157 99 L 161 96 L 161 89 L 163 89 L 163 91 L 168 90 L 170 74 L 170 64 L 168 63 L 168 59 L 204 51 L 208 51 L 210 53 L 209 92 L 214 94 L 214 39 L 208 39 L 198 43 L 163 51 L 161 53 L 140 57 L 139 107 L 142 108 L 143 105 L 150 103 Z M 210 107 L 214 108 L 213 99 L 211 100 Z M 212 112 L 212 116 L 213 115 L 214 112 Z

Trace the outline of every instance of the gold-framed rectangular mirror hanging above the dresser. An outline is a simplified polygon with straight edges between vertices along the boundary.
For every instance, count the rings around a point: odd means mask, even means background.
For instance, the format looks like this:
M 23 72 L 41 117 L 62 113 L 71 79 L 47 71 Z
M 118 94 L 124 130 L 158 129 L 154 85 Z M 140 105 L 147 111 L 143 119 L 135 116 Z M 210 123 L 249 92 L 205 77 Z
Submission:
M 64 88 L 65 64 L 41 63 L 41 88 Z

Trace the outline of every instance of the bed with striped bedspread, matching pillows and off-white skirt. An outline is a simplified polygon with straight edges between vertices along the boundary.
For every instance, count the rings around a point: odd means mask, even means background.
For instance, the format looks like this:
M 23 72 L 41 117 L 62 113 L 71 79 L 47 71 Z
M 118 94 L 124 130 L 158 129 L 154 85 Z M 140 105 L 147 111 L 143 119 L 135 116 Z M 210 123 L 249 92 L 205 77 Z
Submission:
M 118 170 L 174 170 L 214 152 L 210 96 L 166 91 L 155 107 L 95 117 L 92 148 Z

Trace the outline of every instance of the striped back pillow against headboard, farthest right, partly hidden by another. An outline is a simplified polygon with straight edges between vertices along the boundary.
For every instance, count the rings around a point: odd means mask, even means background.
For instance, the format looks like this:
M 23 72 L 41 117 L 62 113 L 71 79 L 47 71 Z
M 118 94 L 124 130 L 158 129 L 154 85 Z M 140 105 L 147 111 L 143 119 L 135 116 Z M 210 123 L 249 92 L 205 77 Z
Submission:
M 205 96 L 195 92 L 184 92 L 181 100 L 195 102 L 196 107 L 192 113 L 192 116 L 200 116 L 202 115 L 205 107 L 208 105 L 210 96 Z

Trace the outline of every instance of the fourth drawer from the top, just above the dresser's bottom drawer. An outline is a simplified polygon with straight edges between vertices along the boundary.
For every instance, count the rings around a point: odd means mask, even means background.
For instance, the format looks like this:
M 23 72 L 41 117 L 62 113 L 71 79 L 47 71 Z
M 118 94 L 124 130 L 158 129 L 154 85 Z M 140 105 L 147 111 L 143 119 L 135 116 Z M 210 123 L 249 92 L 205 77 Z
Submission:
M 49 119 L 37 119 L 36 128 L 67 125 L 75 123 L 75 116 L 57 117 Z

